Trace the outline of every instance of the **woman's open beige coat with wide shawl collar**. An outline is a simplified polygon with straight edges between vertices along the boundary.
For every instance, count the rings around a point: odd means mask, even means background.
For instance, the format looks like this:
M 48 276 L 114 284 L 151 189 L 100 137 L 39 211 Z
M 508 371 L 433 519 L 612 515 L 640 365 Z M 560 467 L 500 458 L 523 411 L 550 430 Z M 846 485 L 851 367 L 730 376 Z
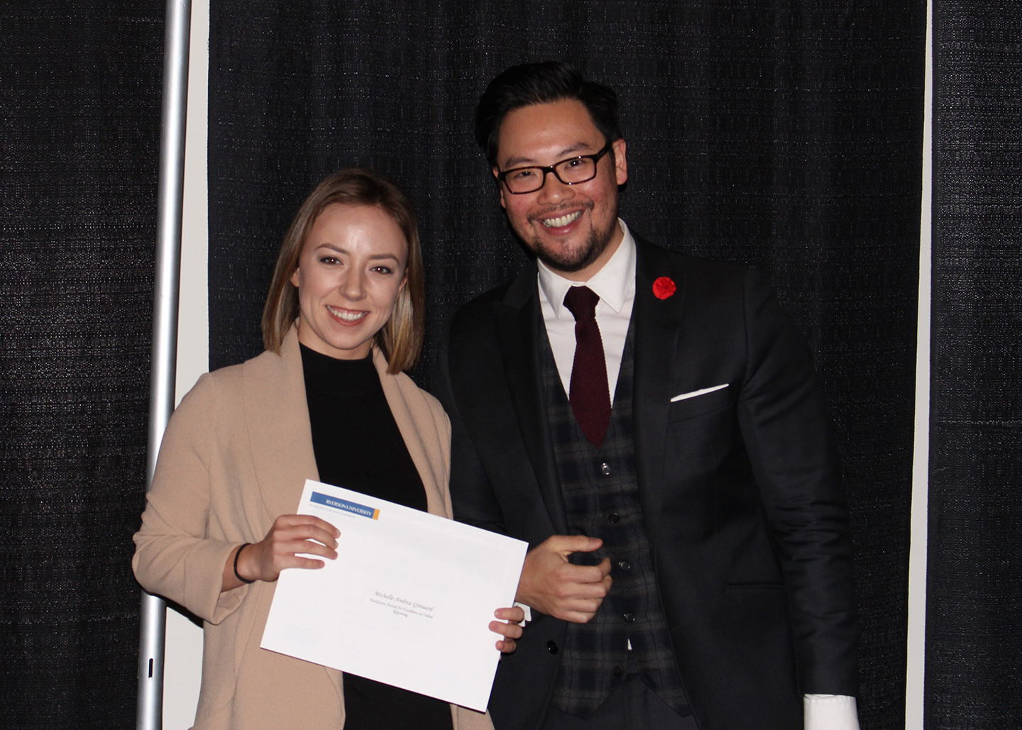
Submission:
M 373 359 L 429 512 L 450 518 L 447 416 L 408 376 L 387 375 L 379 351 Z M 276 583 L 220 590 L 231 550 L 262 540 L 278 516 L 293 514 L 307 478 L 318 473 L 292 329 L 280 355 L 264 352 L 204 375 L 181 401 L 135 535 L 139 583 L 203 621 L 197 729 L 344 724 L 340 672 L 260 648 Z M 493 728 L 479 713 L 452 705 L 452 714 L 455 730 Z

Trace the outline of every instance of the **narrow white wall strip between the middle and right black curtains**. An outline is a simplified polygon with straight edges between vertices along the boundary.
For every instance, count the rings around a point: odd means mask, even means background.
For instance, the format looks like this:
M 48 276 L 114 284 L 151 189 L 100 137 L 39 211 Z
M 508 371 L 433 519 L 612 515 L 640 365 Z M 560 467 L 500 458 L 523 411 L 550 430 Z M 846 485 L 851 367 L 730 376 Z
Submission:
M 912 547 L 909 551 L 909 641 L 905 730 L 923 730 L 926 672 L 926 538 L 930 469 L 930 305 L 933 204 L 933 2 L 926 3 L 923 120 L 923 199 L 919 241 L 919 334 L 916 345 L 916 445 L 912 469 Z

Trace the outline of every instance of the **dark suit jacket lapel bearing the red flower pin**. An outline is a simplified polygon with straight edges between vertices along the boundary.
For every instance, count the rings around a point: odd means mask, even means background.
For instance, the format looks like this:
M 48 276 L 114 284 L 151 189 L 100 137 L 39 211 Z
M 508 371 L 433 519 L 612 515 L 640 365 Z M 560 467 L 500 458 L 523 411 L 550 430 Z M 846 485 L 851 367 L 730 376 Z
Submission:
M 632 310 L 636 326 L 633 424 L 636 469 L 643 518 L 654 541 L 663 494 L 670 374 L 678 350 L 685 302 L 684 272 L 673 271 L 661 249 L 635 236 L 636 298 Z M 653 294 L 653 282 L 668 277 L 678 290 L 666 299 Z

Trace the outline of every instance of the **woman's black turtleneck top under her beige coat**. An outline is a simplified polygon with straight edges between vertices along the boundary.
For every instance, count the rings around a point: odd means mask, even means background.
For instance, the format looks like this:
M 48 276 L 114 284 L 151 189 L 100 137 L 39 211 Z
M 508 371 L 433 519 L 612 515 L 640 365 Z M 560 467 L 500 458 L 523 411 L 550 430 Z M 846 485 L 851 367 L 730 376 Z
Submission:
M 425 512 L 422 479 L 372 356 L 335 359 L 301 345 L 301 369 L 320 481 Z M 346 673 L 344 711 L 344 730 L 452 728 L 447 702 Z

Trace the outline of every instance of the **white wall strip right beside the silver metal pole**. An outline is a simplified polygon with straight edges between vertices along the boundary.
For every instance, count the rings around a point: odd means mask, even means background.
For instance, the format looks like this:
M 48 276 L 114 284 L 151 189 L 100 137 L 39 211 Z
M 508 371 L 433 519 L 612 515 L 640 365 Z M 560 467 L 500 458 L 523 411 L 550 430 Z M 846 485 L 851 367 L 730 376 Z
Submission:
M 192 0 L 190 61 L 181 228 L 177 402 L 181 402 L 181 397 L 210 368 L 206 265 L 210 238 L 206 193 L 210 0 Z M 201 675 L 202 630 L 173 609 L 168 609 L 164 669 L 165 730 L 184 730 L 195 722 Z

